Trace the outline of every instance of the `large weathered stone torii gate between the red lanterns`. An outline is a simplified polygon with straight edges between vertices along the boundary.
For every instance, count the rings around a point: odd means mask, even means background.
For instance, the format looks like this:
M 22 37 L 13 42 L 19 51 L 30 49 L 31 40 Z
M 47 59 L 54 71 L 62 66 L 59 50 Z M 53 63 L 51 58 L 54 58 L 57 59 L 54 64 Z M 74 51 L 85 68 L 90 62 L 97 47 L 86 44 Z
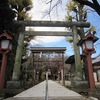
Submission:
M 79 47 L 77 46 L 78 43 L 78 34 L 77 34 L 77 27 L 89 27 L 89 22 L 66 22 L 66 21 L 16 21 L 16 24 L 20 24 L 21 31 L 19 33 L 18 39 L 18 46 L 16 50 L 16 57 L 12 75 L 12 81 L 18 81 L 20 78 L 20 67 L 21 67 L 21 57 L 22 57 L 22 48 L 24 42 L 24 35 L 40 35 L 40 36 L 73 36 L 73 43 L 74 43 L 74 51 L 75 51 L 75 67 L 76 67 L 76 75 L 81 76 L 81 60 L 80 60 L 80 52 Z M 25 31 L 25 27 L 71 27 L 72 32 L 27 32 Z

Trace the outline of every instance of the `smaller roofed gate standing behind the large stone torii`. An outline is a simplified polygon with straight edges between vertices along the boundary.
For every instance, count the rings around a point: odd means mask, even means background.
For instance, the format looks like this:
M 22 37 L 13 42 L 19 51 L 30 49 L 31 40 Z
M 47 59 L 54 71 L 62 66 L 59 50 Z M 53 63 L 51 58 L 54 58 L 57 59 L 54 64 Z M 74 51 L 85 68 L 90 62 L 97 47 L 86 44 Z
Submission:
M 62 83 L 63 83 L 63 85 L 65 85 L 65 77 L 64 77 L 64 75 L 65 75 L 64 74 L 64 53 L 66 51 L 66 47 L 32 47 L 32 48 L 30 48 L 30 50 L 31 50 L 31 55 L 32 55 L 32 57 L 31 57 L 31 59 L 32 59 L 31 60 L 32 68 L 34 67 L 35 62 L 38 62 L 38 63 L 40 63 L 40 62 L 46 62 L 47 63 L 48 62 L 48 64 L 46 65 L 48 67 L 48 66 L 50 66 L 49 62 L 52 62 L 52 63 L 55 62 L 55 60 L 52 60 L 52 61 L 48 60 L 50 58 L 50 54 L 51 53 L 52 54 L 53 53 L 55 53 L 55 54 L 61 54 L 60 60 L 58 60 L 57 63 L 59 64 L 59 71 L 61 71 L 61 80 L 62 80 Z M 41 60 L 35 59 L 35 54 L 41 54 L 41 53 L 48 55 L 48 57 L 45 60 L 43 60 L 43 59 L 41 59 Z M 33 75 L 33 77 L 34 77 L 34 75 Z

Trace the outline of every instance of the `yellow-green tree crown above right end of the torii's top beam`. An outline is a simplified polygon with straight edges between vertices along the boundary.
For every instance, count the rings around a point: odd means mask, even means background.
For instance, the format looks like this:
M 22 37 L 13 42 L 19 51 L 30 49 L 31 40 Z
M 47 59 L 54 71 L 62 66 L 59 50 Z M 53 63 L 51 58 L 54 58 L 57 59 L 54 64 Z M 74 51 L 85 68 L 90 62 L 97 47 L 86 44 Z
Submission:
M 66 5 L 67 15 L 66 20 L 69 21 L 70 18 L 73 21 L 86 21 L 87 12 L 83 5 L 70 0 L 70 2 Z M 80 19 L 81 16 L 81 19 Z M 70 18 L 69 18 L 70 17 Z

